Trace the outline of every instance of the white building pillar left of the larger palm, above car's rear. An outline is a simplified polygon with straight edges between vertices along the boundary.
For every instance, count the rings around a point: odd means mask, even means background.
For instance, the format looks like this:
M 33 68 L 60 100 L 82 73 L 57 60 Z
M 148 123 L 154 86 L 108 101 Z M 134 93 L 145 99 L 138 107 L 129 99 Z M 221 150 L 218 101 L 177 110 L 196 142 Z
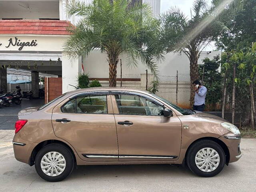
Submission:
M 78 76 L 80 74 L 82 74 L 81 57 L 77 60 L 69 60 L 68 57 L 62 53 L 62 93 L 75 90 L 75 88 L 70 85 L 78 86 Z

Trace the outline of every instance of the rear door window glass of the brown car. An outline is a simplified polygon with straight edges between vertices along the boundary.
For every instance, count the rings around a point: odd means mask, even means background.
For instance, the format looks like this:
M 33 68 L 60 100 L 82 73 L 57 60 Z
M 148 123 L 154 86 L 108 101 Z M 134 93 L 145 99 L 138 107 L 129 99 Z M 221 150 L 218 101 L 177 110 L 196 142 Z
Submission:
M 88 113 L 107 114 L 106 95 L 83 95 L 68 101 L 62 106 L 62 112 L 66 113 Z

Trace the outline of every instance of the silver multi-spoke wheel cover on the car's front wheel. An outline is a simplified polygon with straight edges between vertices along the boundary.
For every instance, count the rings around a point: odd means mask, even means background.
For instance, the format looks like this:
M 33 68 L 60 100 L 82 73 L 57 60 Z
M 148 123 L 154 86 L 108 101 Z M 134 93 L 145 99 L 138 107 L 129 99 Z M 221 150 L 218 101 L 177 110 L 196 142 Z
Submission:
M 196 166 L 203 172 L 212 172 L 220 164 L 220 155 L 213 148 L 202 148 L 196 153 Z

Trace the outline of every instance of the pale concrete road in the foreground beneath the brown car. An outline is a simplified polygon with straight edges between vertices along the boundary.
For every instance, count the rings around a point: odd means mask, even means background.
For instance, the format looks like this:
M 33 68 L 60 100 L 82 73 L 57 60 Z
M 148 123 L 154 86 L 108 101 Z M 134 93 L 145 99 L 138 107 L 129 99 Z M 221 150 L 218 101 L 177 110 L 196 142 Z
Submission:
M 34 166 L 14 158 L 14 130 L 0 130 L 1 192 L 255 192 L 256 139 L 242 139 L 242 158 L 213 178 L 200 178 L 181 166 L 78 166 L 62 182 L 46 182 Z

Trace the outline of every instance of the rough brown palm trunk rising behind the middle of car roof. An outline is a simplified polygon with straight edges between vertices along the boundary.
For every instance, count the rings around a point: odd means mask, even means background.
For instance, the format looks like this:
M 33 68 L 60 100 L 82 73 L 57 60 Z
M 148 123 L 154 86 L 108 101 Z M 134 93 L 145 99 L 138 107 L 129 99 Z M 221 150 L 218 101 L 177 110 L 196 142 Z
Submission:
M 115 46 L 106 48 L 108 55 L 107 61 L 109 65 L 109 86 L 116 87 L 116 69 L 119 61 L 119 52 L 115 49 Z

